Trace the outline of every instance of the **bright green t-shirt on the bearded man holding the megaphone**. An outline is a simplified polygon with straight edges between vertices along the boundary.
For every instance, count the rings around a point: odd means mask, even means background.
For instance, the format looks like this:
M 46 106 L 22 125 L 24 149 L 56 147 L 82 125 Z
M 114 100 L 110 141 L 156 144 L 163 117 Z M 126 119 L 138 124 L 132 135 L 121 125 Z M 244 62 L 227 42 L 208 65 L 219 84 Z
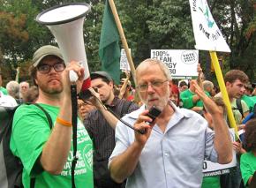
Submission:
M 46 104 L 40 105 L 47 110 L 54 126 L 59 108 Z M 48 119 L 41 109 L 34 105 L 22 105 L 16 110 L 10 147 L 12 153 L 21 159 L 24 166 L 22 183 L 25 188 L 30 187 L 30 177 L 36 177 L 35 187 L 72 187 L 72 148 L 60 175 L 51 175 L 46 171 L 38 172 L 36 165 L 34 167 L 50 133 Z M 75 169 L 75 184 L 78 188 L 91 188 L 94 187 L 93 144 L 84 125 L 79 120 L 77 138 L 79 160 Z

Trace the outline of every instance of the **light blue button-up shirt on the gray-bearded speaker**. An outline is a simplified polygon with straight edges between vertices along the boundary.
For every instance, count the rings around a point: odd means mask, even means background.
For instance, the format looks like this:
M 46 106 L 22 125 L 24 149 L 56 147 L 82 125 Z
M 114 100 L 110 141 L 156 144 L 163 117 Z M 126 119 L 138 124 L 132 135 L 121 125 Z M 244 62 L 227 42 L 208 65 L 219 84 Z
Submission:
M 217 162 L 215 132 L 208 128 L 207 121 L 192 110 L 170 104 L 175 112 L 165 132 L 154 125 L 126 187 L 200 188 L 204 159 Z M 145 106 L 123 117 L 124 121 L 134 124 L 143 110 Z M 134 142 L 134 131 L 118 122 L 115 137 L 109 163 Z

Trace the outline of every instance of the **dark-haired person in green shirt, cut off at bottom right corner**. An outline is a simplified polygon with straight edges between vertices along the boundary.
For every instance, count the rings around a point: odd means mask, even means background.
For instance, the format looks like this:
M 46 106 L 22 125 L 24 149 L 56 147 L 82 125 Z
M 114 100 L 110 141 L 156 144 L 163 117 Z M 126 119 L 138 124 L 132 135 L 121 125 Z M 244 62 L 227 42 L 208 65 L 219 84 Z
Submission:
M 252 184 L 252 176 L 256 172 L 256 118 L 245 125 L 245 148 L 247 153 L 242 154 L 240 168 L 244 184 Z

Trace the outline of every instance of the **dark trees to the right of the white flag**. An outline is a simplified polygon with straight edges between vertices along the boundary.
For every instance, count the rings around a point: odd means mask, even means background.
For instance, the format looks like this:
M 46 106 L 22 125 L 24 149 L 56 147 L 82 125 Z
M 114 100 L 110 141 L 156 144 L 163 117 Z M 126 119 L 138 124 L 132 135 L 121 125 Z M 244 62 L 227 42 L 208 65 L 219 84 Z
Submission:
M 255 78 L 255 3 L 253 0 L 212 1 L 213 16 L 231 49 L 224 54 L 226 71 L 240 69 Z

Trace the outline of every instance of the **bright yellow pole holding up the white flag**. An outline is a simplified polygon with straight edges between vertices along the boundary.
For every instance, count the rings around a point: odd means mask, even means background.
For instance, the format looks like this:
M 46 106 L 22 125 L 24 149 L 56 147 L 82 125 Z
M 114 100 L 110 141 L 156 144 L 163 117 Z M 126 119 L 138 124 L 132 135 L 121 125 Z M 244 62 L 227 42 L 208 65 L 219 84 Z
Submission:
M 212 59 L 212 62 L 213 62 L 214 68 L 215 68 L 215 74 L 216 74 L 216 77 L 217 77 L 217 80 L 218 80 L 218 83 L 219 83 L 219 86 L 220 86 L 220 89 L 221 89 L 221 92 L 222 92 L 222 98 L 223 98 L 223 101 L 224 101 L 224 103 L 226 104 L 226 107 L 227 107 L 230 126 L 232 128 L 234 128 L 236 138 L 239 139 L 239 135 L 238 135 L 238 132 L 237 132 L 237 124 L 236 124 L 236 121 L 235 121 L 235 118 L 234 118 L 234 115 L 233 115 L 233 111 L 232 111 L 232 108 L 231 108 L 230 98 L 229 98 L 228 92 L 226 90 L 226 86 L 225 86 L 224 79 L 223 79 L 223 76 L 222 76 L 222 70 L 221 70 L 221 67 L 220 67 L 220 64 L 219 64 L 218 57 L 217 57 L 215 51 L 210 51 L 210 56 L 211 56 L 211 59 Z

